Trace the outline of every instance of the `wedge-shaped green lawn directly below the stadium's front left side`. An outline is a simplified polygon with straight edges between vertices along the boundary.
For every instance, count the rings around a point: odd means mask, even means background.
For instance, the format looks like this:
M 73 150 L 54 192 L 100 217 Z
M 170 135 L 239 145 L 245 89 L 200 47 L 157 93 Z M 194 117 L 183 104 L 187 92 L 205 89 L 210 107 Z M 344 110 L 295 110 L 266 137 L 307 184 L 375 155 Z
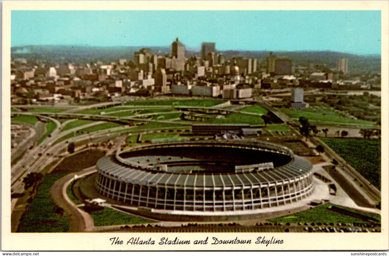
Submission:
M 90 215 L 95 221 L 95 226 L 112 226 L 112 225 L 124 225 L 124 224 L 137 224 L 137 223 L 154 223 L 150 219 L 145 219 L 124 212 L 119 212 L 109 207 L 105 207 L 102 211 L 91 212 Z

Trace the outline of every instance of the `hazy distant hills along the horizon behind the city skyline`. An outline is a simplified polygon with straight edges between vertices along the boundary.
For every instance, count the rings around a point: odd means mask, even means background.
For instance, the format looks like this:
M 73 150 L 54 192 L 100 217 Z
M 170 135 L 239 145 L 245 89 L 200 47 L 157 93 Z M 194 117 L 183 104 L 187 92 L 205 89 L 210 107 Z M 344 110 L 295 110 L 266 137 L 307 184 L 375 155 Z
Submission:
M 114 62 L 118 59 L 133 60 L 133 53 L 141 48 L 151 48 L 153 54 L 170 54 L 170 46 L 83 46 L 83 45 L 35 45 L 11 47 L 11 58 L 25 58 L 28 61 L 42 60 L 55 64 L 84 64 L 101 61 Z M 256 58 L 265 62 L 270 51 L 219 51 L 228 59 L 234 56 Z M 336 51 L 273 51 L 279 57 L 287 57 L 296 65 L 318 64 L 336 67 L 340 58 L 347 58 L 349 71 L 381 72 L 380 55 L 356 55 Z M 187 50 L 186 57 L 200 56 L 196 50 Z

